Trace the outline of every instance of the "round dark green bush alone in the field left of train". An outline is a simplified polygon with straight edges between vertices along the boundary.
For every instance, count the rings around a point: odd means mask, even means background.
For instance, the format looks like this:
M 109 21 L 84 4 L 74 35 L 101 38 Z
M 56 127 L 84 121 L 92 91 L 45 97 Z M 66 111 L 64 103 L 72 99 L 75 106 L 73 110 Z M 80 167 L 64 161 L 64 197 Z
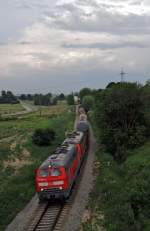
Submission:
M 39 146 L 50 145 L 54 140 L 55 132 L 50 128 L 36 129 L 32 136 L 33 143 Z

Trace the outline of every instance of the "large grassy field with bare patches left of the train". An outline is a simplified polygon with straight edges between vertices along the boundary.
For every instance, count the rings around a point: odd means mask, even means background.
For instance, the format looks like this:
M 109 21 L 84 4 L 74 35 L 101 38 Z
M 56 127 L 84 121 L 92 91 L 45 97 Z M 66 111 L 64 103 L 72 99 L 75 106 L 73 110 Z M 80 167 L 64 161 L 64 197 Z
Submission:
M 34 195 L 36 167 L 62 142 L 65 131 L 73 128 L 74 113 L 67 106 L 65 110 L 59 106 L 52 111 L 42 108 L 41 115 L 34 112 L 21 119 L 0 121 L 0 230 Z M 32 143 L 37 128 L 55 130 L 56 140 L 51 146 L 38 147 Z

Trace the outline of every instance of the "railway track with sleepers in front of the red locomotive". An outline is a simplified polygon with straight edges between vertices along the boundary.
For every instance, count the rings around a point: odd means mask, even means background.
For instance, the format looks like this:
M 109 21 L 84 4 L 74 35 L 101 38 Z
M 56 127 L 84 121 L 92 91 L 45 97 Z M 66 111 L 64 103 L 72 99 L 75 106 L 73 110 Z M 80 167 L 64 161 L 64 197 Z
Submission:
M 72 207 L 80 181 L 82 179 L 84 167 L 86 165 L 87 155 L 81 165 L 78 179 L 72 189 L 71 196 L 65 202 L 43 202 L 40 203 L 34 217 L 31 218 L 27 231 L 62 231 L 67 214 Z

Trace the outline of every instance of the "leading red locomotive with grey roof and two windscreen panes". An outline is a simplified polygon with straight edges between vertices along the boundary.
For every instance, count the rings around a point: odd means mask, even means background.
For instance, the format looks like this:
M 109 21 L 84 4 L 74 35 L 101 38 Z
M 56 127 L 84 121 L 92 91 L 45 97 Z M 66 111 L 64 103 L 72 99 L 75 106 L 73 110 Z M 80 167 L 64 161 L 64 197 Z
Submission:
M 62 145 L 37 169 L 35 182 L 40 200 L 69 196 L 74 179 L 70 169 L 76 157 L 75 145 Z

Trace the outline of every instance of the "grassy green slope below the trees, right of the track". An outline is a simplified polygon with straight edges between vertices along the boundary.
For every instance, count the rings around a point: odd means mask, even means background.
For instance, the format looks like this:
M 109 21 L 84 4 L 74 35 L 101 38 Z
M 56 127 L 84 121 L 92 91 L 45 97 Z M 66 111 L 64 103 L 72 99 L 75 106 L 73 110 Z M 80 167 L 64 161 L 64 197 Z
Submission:
M 82 231 L 150 230 L 150 142 L 130 151 L 120 166 L 109 153 L 96 152 L 96 181 Z

